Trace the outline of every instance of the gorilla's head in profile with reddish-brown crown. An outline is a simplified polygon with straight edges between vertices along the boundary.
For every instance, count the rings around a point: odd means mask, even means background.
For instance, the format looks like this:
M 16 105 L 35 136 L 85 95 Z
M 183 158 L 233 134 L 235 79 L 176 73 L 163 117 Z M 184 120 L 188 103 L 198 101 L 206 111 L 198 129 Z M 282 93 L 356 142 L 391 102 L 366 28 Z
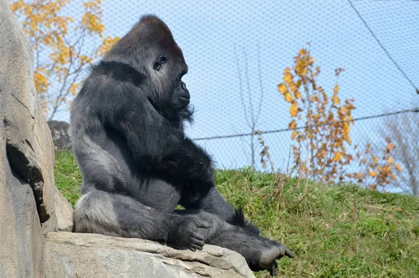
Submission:
M 142 73 L 141 86 L 159 112 L 170 116 L 189 105 L 190 95 L 182 82 L 188 66 L 172 32 L 158 17 L 142 17 L 103 61 L 120 61 Z

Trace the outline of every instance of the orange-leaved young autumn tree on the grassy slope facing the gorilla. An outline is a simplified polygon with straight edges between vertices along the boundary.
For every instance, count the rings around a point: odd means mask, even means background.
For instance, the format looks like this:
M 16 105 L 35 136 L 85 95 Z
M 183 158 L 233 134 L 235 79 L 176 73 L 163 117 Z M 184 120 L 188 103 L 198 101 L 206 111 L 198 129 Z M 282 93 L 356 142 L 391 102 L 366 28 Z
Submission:
M 395 145 L 390 138 L 385 139 L 386 147 L 380 155 L 372 154 L 371 145 L 360 151 L 352 143 L 354 100 L 342 101 L 339 96 L 339 75 L 344 69 L 335 71 L 336 85 L 328 94 L 317 83 L 321 68 L 314 63 L 309 49 L 302 48 L 278 85 L 284 101 L 289 103 L 288 129 L 292 131 L 297 173 L 326 183 L 356 181 L 372 189 L 396 180 L 394 172 L 402 168 L 392 159 Z

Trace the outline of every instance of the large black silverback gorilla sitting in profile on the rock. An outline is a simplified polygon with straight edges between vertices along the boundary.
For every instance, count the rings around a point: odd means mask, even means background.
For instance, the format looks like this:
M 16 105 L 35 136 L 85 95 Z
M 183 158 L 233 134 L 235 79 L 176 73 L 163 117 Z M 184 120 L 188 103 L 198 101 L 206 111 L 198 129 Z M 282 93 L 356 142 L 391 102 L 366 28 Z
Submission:
M 226 202 L 211 157 L 184 134 L 192 121 L 187 71 L 170 29 L 154 15 L 141 17 L 91 68 L 71 109 L 82 173 L 74 231 L 191 251 L 214 244 L 274 275 L 277 259 L 294 254 Z

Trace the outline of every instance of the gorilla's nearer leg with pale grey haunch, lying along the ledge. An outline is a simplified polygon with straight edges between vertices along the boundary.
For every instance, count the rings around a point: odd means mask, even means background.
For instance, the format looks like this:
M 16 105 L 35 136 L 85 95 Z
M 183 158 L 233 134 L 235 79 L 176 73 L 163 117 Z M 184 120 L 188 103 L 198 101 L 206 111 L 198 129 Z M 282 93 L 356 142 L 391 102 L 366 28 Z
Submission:
M 192 251 L 202 249 L 204 245 L 198 230 L 205 231 L 210 227 L 194 215 L 159 212 L 131 197 L 96 189 L 91 189 L 78 200 L 74 222 L 77 233 L 138 237 Z

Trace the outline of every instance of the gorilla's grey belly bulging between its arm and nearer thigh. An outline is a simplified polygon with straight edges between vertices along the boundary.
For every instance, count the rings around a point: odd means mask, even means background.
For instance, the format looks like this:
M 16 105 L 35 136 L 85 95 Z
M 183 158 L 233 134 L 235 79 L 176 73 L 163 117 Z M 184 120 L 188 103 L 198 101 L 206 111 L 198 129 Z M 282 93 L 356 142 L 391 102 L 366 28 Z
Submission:
M 155 179 L 141 182 L 134 193 L 135 198 L 142 204 L 164 212 L 175 210 L 181 194 L 182 186 Z

